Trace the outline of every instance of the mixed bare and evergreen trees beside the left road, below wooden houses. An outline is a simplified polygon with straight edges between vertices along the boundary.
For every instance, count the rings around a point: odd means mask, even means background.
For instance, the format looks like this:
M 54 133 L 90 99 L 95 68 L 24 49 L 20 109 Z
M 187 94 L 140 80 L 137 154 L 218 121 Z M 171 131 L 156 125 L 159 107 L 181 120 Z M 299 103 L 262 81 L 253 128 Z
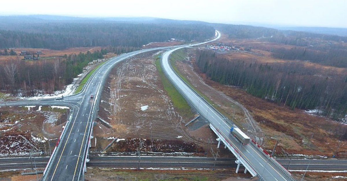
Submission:
M 129 51 L 133 51 L 129 49 Z M 107 49 L 61 56 L 57 61 L 39 62 L 16 60 L 0 65 L 0 90 L 14 96 L 35 96 L 53 93 L 70 84 L 89 62 L 108 53 Z

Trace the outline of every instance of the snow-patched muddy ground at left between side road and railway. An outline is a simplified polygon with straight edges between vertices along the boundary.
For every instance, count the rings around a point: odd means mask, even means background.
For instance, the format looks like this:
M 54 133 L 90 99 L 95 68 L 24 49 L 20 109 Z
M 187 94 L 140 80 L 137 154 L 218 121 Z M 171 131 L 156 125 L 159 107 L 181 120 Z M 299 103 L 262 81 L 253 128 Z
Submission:
M 0 156 L 49 155 L 66 122 L 66 109 L 0 108 Z

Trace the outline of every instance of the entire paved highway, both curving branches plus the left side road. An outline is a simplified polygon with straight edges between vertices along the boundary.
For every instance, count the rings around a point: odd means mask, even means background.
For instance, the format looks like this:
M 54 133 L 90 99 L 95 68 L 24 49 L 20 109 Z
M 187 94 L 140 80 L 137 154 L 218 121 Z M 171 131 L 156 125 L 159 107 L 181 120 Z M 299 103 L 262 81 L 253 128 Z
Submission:
M 208 42 L 212 42 L 218 38 L 220 38 L 220 33 L 216 31 L 216 38 Z M 273 159 L 269 159 L 269 156 L 263 154 L 254 144 L 240 144 L 240 141 L 229 133 L 231 127 L 230 121 L 219 114 L 217 110 L 189 88 L 168 63 L 169 55 L 175 50 L 208 42 L 173 47 L 150 48 L 114 57 L 101 65 L 92 74 L 81 93 L 65 97 L 64 100 L 45 99 L 7 102 L 8 106 L 64 105 L 72 107 L 72 119 L 67 121 L 64 132 L 59 138 L 59 144 L 54 149 L 50 161 L 46 166 L 43 180 L 80 180 L 86 169 L 88 145 L 92 134 L 93 120 L 95 119 L 95 113 L 98 109 L 100 94 L 110 70 L 117 63 L 131 56 L 160 49 L 170 49 L 163 53 L 161 60 L 161 66 L 168 79 L 175 85 L 177 90 L 183 94 L 187 101 L 196 108 L 203 117 L 206 117 L 210 121 L 211 128 L 217 129 L 218 136 L 225 139 L 224 141 L 228 143 L 227 146 L 234 154 L 237 153 L 235 155 L 238 157 L 238 160 L 242 161 L 242 163 L 246 163 L 252 175 L 257 174 L 265 180 L 293 180 L 281 165 Z M 93 95 L 94 98 L 90 98 L 90 95 Z M 3 103 L 0 103 L 0 106 L 1 105 L 3 105 Z

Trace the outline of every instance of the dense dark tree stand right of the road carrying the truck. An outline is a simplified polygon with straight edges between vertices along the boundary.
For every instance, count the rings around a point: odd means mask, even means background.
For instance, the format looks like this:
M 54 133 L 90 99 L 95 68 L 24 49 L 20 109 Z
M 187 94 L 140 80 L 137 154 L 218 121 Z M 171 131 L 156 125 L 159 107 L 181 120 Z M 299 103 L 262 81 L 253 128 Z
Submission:
M 213 81 L 245 89 L 253 96 L 298 109 L 318 109 L 340 120 L 347 113 L 347 72 L 325 73 L 302 62 L 262 64 L 227 60 L 211 51 L 197 51 L 196 64 Z

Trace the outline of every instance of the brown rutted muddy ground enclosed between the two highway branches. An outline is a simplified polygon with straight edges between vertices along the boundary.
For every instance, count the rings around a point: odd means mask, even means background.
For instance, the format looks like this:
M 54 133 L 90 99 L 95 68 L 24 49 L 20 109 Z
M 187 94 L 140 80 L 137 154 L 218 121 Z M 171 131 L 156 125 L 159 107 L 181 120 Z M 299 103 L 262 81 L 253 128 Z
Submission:
M 194 116 L 183 117 L 173 106 L 154 64 L 156 54 L 158 52 L 132 57 L 118 64 L 110 73 L 103 89 L 99 116 L 111 127 L 97 121 L 98 125 L 94 127 L 97 139 L 95 151 L 134 152 L 135 147 L 119 147 L 126 145 L 120 144 L 121 142 L 130 142 L 131 138 L 155 140 L 158 147 L 172 142 L 179 143 L 182 147 L 199 143 L 197 155 L 200 156 L 206 153 L 210 155 L 211 147 L 216 149 L 216 137 L 204 119 L 184 126 Z M 192 115 L 195 113 L 192 110 Z M 126 140 L 117 141 L 115 138 Z M 112 141 L 115 142 L 105 150 Z M 182 149 L 178 147 L 172 150 L 176 151 L 181 152 Z M 193 147 L 187 154 L 193 155 L 195 151 L 196 147 Z M 232 156 L 225 149 L 222 149 L 222 153 L 222 156 Z

